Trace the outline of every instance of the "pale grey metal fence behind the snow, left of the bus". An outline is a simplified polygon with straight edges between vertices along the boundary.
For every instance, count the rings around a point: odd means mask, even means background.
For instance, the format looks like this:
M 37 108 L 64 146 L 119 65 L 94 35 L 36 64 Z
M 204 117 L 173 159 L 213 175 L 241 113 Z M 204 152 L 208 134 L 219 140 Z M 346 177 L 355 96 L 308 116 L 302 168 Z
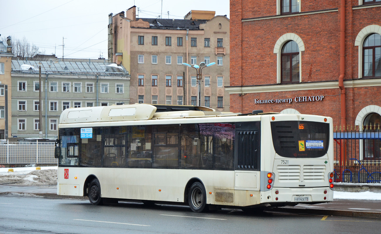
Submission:
M 0 164 L 54 164 L 54 142 L 0 142 Z

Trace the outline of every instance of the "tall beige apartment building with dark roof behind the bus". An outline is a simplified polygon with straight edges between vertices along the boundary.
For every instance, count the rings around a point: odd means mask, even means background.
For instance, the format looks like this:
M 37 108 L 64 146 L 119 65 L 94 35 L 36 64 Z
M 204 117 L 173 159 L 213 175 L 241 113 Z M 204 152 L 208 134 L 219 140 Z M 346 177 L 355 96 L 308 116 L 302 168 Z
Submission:
M 109 62 L 130 71 L 130 103 L 201 105 L 229 111 L 229 19 L 192 10 L 184 19 L 136 18 L 136 6 L 109 14 Z M 200 66 L 202 67 L 202 66 Z

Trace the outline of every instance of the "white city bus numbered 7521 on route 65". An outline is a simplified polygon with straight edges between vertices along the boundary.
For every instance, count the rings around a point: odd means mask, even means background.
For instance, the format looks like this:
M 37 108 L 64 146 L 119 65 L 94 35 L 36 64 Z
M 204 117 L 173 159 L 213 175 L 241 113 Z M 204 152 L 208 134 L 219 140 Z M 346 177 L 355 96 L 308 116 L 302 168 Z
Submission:
M 209 208 L 333 200 L 332 118 L 221 113 L 185 105 L 68 108 L 55 156 L 59 195 Z

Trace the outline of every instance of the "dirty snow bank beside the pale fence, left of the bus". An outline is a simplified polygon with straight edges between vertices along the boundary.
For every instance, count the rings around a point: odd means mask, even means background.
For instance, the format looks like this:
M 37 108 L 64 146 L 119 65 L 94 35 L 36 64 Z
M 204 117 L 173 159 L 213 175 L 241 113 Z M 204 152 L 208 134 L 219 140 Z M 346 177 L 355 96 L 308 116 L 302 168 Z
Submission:
M 56 185 L 57 167 L 14 167 L 14 172 L 9 168 L 0 168 L 0 185 Z

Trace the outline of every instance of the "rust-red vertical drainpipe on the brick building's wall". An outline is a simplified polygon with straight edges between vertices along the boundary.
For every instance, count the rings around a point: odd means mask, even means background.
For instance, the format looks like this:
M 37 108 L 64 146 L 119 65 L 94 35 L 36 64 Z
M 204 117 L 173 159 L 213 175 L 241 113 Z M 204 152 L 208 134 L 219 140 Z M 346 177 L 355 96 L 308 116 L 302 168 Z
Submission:
M 339 88 L 341 90 L 341 125 L 346 125 L 345 108 L 345 0 L 340 0 L 340 76 Z

